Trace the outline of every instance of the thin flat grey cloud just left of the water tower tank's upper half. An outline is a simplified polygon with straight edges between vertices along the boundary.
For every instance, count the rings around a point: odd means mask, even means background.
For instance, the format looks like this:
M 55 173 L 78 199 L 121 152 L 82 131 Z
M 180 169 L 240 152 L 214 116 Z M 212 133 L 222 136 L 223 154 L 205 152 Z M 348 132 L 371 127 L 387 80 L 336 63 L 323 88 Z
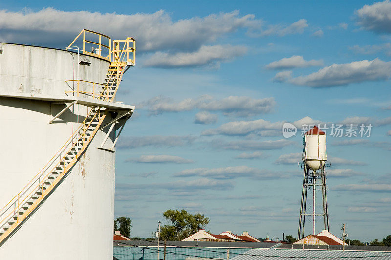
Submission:
M 216 148 L 232 149 L 232 150 L 273 150 L 282 149 L 283 147 L 294 145 L 295 142 L 288 139 L 267 140 L 267 141 L 252 141 L 239 140 L 225 142 L 223 140 L 214 140 L 211 145 Z

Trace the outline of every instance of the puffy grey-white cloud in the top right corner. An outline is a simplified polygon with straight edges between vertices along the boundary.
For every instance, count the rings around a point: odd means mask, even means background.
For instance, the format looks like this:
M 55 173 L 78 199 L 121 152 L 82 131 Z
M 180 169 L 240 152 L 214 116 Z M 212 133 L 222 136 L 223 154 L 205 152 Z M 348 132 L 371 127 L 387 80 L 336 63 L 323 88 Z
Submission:
M 378 33 L 391 32 L 391 3 L 389 0 L 364 5 L 356 11 L 357 24 Z

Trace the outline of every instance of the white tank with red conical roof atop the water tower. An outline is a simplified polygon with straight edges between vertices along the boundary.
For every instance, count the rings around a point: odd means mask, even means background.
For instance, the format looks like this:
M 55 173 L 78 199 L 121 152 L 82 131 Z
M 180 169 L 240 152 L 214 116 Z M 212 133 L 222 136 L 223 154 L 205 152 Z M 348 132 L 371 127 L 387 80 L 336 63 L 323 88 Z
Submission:
M 313 171 L 322 168 L 327 161 L 326 133 L 317 126 L 314 126 L 304 134 L 302 160 Z

